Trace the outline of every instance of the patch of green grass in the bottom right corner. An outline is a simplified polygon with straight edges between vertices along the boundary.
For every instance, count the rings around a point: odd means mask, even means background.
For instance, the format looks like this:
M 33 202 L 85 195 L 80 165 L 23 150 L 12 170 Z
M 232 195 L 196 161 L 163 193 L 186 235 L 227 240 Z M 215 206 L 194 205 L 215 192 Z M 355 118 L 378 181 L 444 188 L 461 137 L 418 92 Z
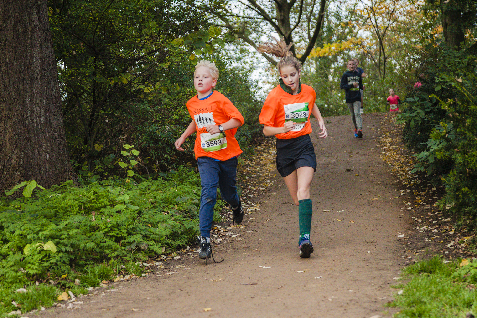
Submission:
M 399 308 L 395 318 L 466 317 L 477 305 L 476 262 L 456 259 L 446 264 L 434 256 L 405 267 L 401 277 L 407 282 L 394 288 L 403 292 L 388 304 Z

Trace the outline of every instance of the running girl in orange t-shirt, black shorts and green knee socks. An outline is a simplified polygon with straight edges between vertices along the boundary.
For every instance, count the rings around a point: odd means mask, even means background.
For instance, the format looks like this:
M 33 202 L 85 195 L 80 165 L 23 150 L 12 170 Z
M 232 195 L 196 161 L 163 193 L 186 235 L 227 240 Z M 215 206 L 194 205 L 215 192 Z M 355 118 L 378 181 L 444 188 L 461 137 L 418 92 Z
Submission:
M 310 241 L 312 204 L 310 184 L 316 171 L 315 149 L 311 143 L 310 115 L 318 120 L 320 137 L 328 133 L 315 104 L 316 93 L 311 86 L 301 84 L 301 62 L 290 51 L 291 45 L 275 40 L 258 47 L 280 58 L 277 68 L 280 72 L 279 85 L 267 96 L 260 112 L 259 121 L 263 124 L 263 133 L 277 137 L 277 170 L 290 191 L 293 202 L 298 205 L 300 234 L 298 246 L 300 257 L 309 258 L 313 253 Z

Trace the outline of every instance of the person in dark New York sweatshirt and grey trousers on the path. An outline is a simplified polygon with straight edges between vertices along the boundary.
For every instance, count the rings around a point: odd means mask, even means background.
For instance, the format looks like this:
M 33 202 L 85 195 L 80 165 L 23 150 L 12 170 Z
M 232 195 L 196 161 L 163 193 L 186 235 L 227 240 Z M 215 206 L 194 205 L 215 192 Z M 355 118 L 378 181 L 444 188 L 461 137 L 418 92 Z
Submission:
M 361 74 L 356 72 L 356 62 L 348 60 L 348 71 L 344 72 L 340 88 L 344 90 L 346 104 L 351 113 L 354 125 L 354 137 L 363 138 L 363 119 L 361 118 L 361 91 L 363 80 Z

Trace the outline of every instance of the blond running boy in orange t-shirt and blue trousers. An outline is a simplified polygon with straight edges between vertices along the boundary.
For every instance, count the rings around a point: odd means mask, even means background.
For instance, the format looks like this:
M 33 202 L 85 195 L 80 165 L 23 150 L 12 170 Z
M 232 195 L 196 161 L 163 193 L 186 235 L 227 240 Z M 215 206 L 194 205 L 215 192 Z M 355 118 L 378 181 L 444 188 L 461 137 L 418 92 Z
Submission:
M 235 139 L 237 127 L 244 123 L 242 114 L 227 97 L 212 89 L 217 84 L 218 68 L 210 61 L 200 61 L 194 72 L 194 88 L 197 95 L 187 102 L 192 122 L 174 145 L 179 151 L 184 141 L 197 133 L 194 153 L 200 174 L 199 228 L 197 242 L 200 246 L 199 258 L 212 256 L 210 246 L 210 229 L 217 202 L 217 187 L 220 195 L 227 202 L 233 213 L 234 223 L 243 220 L 243 208 L 237 194 L 236 174 L 240 150 Z M 215 262 L 215 260 L 214 260 Z

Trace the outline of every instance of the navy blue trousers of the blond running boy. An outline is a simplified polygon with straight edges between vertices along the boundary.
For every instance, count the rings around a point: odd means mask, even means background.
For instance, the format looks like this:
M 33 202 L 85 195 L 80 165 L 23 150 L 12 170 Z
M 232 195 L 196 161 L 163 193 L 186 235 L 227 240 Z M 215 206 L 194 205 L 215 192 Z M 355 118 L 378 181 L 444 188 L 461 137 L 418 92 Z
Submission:
M 239 195 L 235 186 L 235 176 L 237 175 L 237 158 L 225 161 L 215 161 L 209 157 L 198 157 L 200 185 L 200 210 L 199 228 L 200 235 L 210 237 L 212 219 L 214 217 L 214 206 L 217 202 L 217 187 L 220 189 L 222 199 L 230 206 L 239 206 Z

